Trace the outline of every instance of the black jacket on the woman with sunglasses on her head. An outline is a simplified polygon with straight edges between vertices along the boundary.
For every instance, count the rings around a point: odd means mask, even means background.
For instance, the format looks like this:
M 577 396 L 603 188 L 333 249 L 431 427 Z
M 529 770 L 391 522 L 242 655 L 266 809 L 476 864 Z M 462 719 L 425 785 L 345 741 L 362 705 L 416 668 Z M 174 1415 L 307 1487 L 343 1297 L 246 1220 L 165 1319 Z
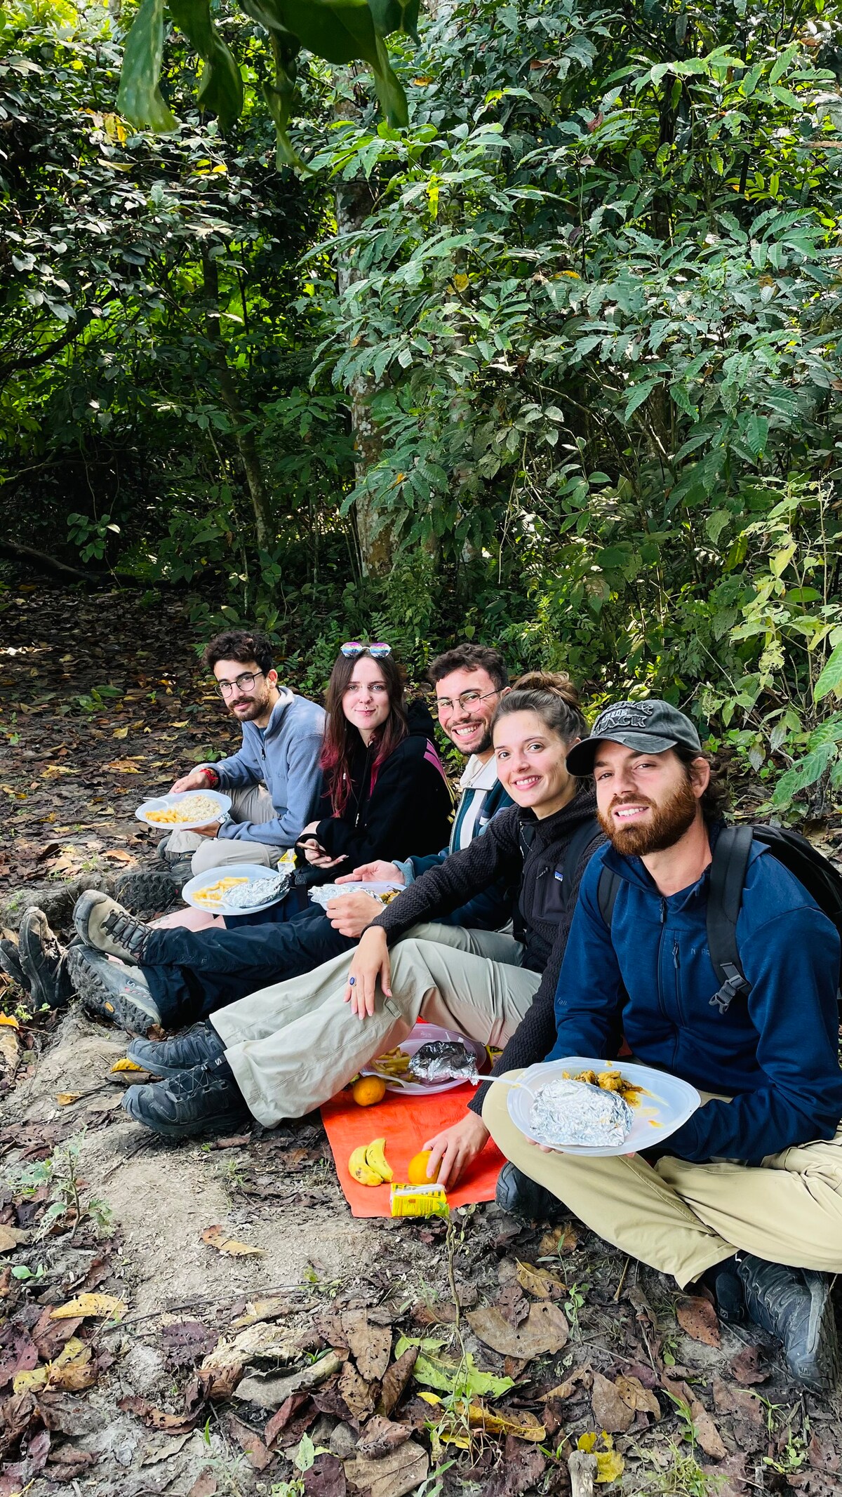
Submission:
M 351 792 L 341 816 L 331 816 L 328 796 L 316 838 L 347 867 L 328 868 L 325 882 L 362 862 L 431 853 L 447 843 L 453 798 L 438 762 L 435 728 L 423 702 L 410 702 L 410 732 L 377 771 L 371 786 L 375 746 L 359 740 L 351 760 Z

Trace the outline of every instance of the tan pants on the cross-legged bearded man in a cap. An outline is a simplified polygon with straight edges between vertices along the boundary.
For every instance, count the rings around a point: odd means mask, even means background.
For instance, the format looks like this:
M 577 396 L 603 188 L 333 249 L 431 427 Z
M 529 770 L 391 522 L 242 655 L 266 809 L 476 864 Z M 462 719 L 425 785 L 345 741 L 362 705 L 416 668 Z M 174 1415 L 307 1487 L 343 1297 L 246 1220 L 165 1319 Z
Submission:
M 483 1105 L 501 1153 L 601 1238 L 673 1274 L 682 1289 L 737 1248 L 793 1268 L 842 1271 L 842 1124 L 830 1142 L 799 1144 L 757 1166 L 670 1156 L 652 1166 L 640 1154 L 544 1154 L 514 1127 L 505 1099 L 505 1087 L 492 1087 Z

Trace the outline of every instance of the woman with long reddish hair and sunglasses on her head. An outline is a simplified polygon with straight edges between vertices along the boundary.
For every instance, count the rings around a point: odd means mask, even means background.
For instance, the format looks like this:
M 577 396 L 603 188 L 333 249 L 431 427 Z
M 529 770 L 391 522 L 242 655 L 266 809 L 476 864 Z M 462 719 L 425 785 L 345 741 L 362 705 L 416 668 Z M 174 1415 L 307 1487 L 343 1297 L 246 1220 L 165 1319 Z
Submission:
M 348 641 L 326 693 L 322 748 L 323 814 L 305 826 L 299 849 L 334 882 L 363 862 L 438 852 L 453 808 L 434 725 L 422 702 L 404 701 L 401 669 L 387 644 Z

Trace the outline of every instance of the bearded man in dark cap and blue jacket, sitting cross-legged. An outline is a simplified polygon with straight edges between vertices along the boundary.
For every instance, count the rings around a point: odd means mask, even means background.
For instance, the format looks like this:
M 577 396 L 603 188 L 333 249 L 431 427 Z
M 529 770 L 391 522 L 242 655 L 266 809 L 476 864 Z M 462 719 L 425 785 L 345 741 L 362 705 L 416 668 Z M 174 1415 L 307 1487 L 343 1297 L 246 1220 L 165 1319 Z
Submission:
M 616 1057 L 625 1037 L 636 1060 L 691 1082 L 703 1105 L 661 1150 L 576 1157 L 528 1141 L 508 1118 L 507 1091 L 492 1087 L 483 1120 L 511 1162 L 498 1202 L 552 1217 L 562 1201 L 682 1289 L 706 1284 L 721 1319 L 761 1325 L 793 1377 L 832 1392 L 830 1283 L 842 1272 L 836 928 L 754 838 L 737 919 L 746 982 L 716 1001 L 706 909 L 724 793 L 694 725 L 669 702 L 619 702 L 567 766 L 594 775 L 609 843 L 580 883 L 547 1058 Z M 600 897 L 606 876 L 612 910 Z

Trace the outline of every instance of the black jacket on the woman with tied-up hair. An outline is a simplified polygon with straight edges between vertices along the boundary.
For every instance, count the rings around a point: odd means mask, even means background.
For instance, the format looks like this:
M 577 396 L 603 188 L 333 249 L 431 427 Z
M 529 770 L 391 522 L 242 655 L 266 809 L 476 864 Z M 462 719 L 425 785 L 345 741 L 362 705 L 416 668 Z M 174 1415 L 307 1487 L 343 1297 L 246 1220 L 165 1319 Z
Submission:
M 591 786 L 582 787 L 568 805 L 543 820 L 517 805 L 498 811 L 482 837 L 410 883 L 372 922 L 383 927 L 389 942 L 393 942 L 422 921 L 450 915 L 497 879 L 519 886 L 514 934 L 523 943 L 523 966 L 543 976 L 531 1009 L 494 1066 L 492 1076 L 532 1066 L 555 1045 L 555 991 L 579 880 L 592 853 L 606 840 L 595 811 Z M 562 894 L 556 874 L 564 871 L 568 844 L 585 822 L 592 823 L 594 835 L 583 846 Z M 482 1112 L 486 1090 L 480 1087 L 468 1103 L 474 1112 Z

